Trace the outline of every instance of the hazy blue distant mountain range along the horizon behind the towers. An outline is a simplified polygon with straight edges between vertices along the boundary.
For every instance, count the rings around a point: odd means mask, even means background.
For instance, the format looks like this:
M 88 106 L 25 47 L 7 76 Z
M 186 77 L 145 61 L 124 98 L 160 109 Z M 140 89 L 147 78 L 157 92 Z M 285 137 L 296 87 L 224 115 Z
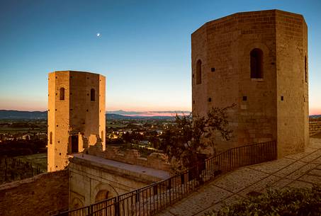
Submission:
M 136 111 L 108 111 L 107 119 L 113 120 L 130 120 L 130 119 L 173 119 L 174 113 L 188 115 L 189 111 L 153 111 L 153 112 L 136 112 Z M 157 115 L 158 114 L 158 115 Z M 310 115 L 310 118 L 321 118 L 321 115 Z M 47 119 L 47 111 L 18 111 L 18 110 L 0 110 L 0 120 L 18 120 L 18 119 Z

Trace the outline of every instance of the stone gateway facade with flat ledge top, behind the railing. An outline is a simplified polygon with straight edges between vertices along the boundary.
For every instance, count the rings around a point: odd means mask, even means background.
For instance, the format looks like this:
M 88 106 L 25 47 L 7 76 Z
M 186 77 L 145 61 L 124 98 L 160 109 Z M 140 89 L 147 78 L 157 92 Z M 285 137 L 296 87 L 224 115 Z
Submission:
M 82 153 L 74 154 L 68 169 L 70 209 L 90 205 L 169 178 L 167 171 Z M 104 198 L 101 193 L 104 193 Z

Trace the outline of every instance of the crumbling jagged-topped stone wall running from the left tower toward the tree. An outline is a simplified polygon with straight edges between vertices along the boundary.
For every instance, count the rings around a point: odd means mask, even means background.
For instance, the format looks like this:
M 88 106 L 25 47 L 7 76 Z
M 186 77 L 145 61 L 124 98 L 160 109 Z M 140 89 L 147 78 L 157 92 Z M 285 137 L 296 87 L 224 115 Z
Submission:
M 106 151 L 103 152 L 99 147 L 96 146 L 89 147 L 88 153 L 94 156 L 113 161 L 120 161 L 126 164 L 135 164 L 164 171 L 171 170 L 171 166 L 167 162 L 166 155 L 162 153 L 152 153 L 145 158 L 141 157 L 140 152 L 138 152 L 136 149 L 128 149 L 125 152 L 121 152 L 119 147 L 106 147 Z

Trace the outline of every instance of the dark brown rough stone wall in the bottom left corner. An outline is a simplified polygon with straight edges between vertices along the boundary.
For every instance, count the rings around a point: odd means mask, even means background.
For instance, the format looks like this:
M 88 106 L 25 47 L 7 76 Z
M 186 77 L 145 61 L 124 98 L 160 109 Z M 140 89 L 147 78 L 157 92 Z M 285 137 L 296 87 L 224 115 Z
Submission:
M 68 209 L 68 171 L 40 174 L 0 186 L 0 215 L 49 215 Z

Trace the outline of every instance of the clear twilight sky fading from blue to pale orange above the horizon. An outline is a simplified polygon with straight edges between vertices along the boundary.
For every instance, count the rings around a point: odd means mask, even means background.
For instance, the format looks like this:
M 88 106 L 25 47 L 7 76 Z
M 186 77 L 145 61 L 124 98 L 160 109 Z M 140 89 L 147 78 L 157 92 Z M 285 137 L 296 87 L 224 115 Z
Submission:
M 47 73 L 72 69 L 106 76 L 107 110 L 191 110 L 191 33 L 274 8 L 308 23 L 310 114 L 321 114 L 320 0 L 0 0 L 0 109 L 46 110 Z

